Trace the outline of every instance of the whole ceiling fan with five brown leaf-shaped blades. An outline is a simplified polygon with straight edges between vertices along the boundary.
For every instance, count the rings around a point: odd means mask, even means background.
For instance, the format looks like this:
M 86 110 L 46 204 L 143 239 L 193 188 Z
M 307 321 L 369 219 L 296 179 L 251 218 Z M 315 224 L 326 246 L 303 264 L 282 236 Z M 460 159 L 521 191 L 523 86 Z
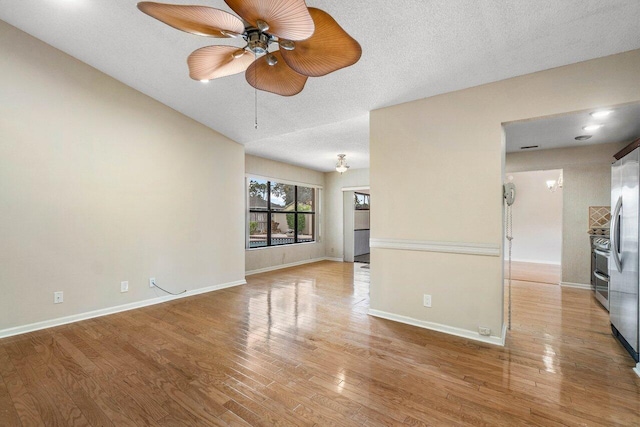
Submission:
M 189 76 L 207 81 L 246 70 L 256 89 L 283 96 L 300 93 L 308 77 L 358 62 L 362 48 L 338 23 L 304 0 L 225 0 L 241 18 L 207 6 L 140 2 L 138 9 L 178 30 L 216 38 L 242 38 L 244 47 L 195 50 Z M 278 50 L 271 49 L 277 45 Z

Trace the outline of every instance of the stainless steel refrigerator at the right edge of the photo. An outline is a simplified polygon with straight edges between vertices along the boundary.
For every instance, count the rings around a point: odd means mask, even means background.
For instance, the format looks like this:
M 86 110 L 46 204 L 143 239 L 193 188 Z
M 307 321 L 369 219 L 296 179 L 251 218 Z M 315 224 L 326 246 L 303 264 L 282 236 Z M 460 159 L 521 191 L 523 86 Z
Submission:
M 640 148 L 611 167 L 611 254 L 609 314 L 611 330 L 638 361 L 638 206 Z

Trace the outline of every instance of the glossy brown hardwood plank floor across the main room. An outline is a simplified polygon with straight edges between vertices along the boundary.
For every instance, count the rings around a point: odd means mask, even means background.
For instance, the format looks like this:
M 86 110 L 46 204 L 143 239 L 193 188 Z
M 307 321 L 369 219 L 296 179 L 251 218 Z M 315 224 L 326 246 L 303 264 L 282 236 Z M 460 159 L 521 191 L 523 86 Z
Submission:
M 0 340 L 0 425 L 640 424 L 640 378 L 588 291 L 513 282 L 506 347 L 366 314 L 321 262 Z

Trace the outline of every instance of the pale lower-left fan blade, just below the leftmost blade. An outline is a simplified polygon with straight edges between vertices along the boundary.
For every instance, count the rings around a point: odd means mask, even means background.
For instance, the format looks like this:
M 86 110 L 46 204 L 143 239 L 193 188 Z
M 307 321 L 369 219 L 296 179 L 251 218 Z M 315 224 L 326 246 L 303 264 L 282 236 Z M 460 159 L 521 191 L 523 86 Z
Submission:
M 203 47 L 193 51 L 187 59 L 189 77 L 194 80 L 211 80 L 241 73 L 253 59 L 252 54 L 234 46 Z

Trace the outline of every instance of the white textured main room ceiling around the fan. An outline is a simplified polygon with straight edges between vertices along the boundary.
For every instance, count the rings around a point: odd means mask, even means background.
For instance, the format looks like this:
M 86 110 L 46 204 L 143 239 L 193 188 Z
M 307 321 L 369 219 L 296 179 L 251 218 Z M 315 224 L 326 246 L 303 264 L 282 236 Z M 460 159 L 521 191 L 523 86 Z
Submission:
M 226 11 L 222 0 L 170 0 Z M 135 0 L 0 0 L 0 19 L 246 146 L 316 170 L 346 153 L 369 164 L 369 111 L 640 48 L 637 0 L 308 0 L 360 42 L 356 65 L 310 78 L 294 97 L 242 74 L 209 83 L 187 56 L 212 44 L 139 12 Z M 1 42 L 1 41 L 0 41 Z

